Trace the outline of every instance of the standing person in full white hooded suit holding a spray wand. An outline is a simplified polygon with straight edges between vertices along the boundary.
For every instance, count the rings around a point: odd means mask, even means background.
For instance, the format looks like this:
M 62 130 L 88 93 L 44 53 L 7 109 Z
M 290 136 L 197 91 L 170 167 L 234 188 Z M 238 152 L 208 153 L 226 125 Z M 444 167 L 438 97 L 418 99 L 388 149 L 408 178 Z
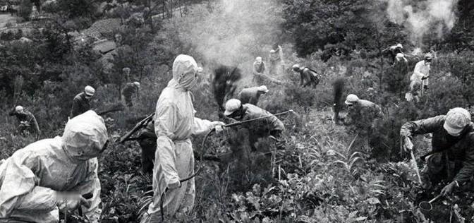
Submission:
M 216 128 L 221 131 L 224 123 L 195 118 L 192 93 L 196 83 L 197 64 L 193 57 L 179 55 L 173 63 L 173 79 L 164 88 L 157 102 L 154 129 L 157 151 L 153 168 L 153 199 L 141 222 L 160 222 L 160 205 L 163 200 L 164 217 L 168 220 L 186 215 L 194 206 L 195 182 L 194 155 L 190 136 L 200 135 Z M 168 188 L 168 191 L 166 191 Z M 171 220 L 172 222 L 172 220 Z

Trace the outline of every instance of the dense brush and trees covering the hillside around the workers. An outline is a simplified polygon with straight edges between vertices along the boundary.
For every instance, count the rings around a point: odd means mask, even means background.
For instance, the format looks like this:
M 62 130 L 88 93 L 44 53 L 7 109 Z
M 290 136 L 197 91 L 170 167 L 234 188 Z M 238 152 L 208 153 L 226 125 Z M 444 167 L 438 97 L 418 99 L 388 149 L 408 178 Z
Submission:
M 284 85 L 268 83 L 270 92 L 259 106 L 299 114 L 282 117 L 288 130 L 278 146 L 284 149 L 275 151 L 273 143 L 263 140 L 250 152 L 238 143 L 248 137 L 242 130 L 213 135 L 207 147 L 234 155 L 220 163 L 197 162 L 205 169 L 196 179 L 193 215 L 183 222 L 461 222 L 461 217 L 473 217 L 471 191 L 456 192 L 451 200 L 436 203 L 432 212 L 418 209 L 421 200 L 439 191 L 418 188 L 412 167 L 399 155 L 401 124 L 473 104 L 472 1 L 443 1 L 456 3 L 452 27 L 431 18 L 427 31 L 416 37 L 413 24 L 393 19 L 388 0 L 57 2 L 42 6 L 49 18 L 18 23 L 20 31 L 0 34 L 0 115 L 5 120 L 0 158 L 34 140 L 13 135 L 15 121 L 8 111 L 15 105 L 35 114 L 42 138 L 60 135 L 75 94 L 92 85 L 97 90 L 95 109 L 107 109 L 119 102 L 126 82 L 122 68 L 129 67 L 131 78 L 141 83 L 140 98 L 134 107 L 104 116 L 110 137 L 118 138 L 154 111 L 177 54 L 190 54 L 205 68 L 193 90 L 196 116 L 218 119 L 210 83 L 214 66 L 241 68 L 239 89 L 255 85 L 253 59 L 267 60 L 269 49 L 279 43 L 286 72 L 273 77 Z M 421 11 L 430 1 L 403 2 Z M 119 21 L 116 28 L 109 23 L 97 28 L 97 23 L 113 19 Z M 75 32 L 89 36 L 81 40 Z M 122 41 L 115 56 L 97 52 L 97 39 L 114 40 L 117 33 Z M 420 52 L 435 54 L 430 89 L 416 104 L 397 93 L 406 90 L 405 84 L 393 85 L 390 79 L 391 59 L 383 49 L 398 42 L 410 71 L 423 58 Z M 298 77 L 289 69 L 293 63 L 320 72 L 320 85 L 297 88 Z M 367 74 L 375 91 L 367 91 L 362 81 Z M 356 132 L 329 121 L 332 83 L 338 78 L 346 80 L 344 97 L 355 93 L 383 108 L 384 119 L 373 126 L 377 143 L 370 147 L 354 149 Z M 418 155 L 429 149 L 429 139 L 415 141 Z M 202 149 L 202 138 L 193 142 L 195 150 Z M 266 155 L 269 152 L 272 156 Z M 135 142 L 112 143 L 100 157 L 104 222 L 137 221 L 151 195 L 151 180 L 139 169 L 140 147 Z M 454 204 L 459 210 L 450 218 Z

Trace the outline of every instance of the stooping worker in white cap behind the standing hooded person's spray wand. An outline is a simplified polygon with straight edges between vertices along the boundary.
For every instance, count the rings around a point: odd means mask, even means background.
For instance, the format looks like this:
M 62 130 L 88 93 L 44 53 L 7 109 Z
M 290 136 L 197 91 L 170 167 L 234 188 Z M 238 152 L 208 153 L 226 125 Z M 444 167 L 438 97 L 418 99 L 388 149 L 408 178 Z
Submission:
M 253 104 L 242 104 L 241 100 L 231 99 L 226 102 L 225 107 L 226 111 L 224 111 L 224 115 L 236 121 L 247 121 L 267 117 L 243 124 L 243 127 L 248 128 L 250 132 L 250 146 L 254 149 L 255 143 L 259 138 L 270 135 L 274 138 L 278 138 L 281 132 L 285 130 L 284 123 L 281 122 L 277 116 Z

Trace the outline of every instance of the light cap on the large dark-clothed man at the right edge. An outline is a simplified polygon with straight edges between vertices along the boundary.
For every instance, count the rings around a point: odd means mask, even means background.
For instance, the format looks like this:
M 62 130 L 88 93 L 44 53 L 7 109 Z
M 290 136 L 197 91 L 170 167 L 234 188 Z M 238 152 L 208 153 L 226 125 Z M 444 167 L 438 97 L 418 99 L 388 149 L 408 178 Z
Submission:
M 446 114 L 443 128 L 449 135 L 458 135 L 470 122 L 470 113 L 463 108 L 450 109 Z

